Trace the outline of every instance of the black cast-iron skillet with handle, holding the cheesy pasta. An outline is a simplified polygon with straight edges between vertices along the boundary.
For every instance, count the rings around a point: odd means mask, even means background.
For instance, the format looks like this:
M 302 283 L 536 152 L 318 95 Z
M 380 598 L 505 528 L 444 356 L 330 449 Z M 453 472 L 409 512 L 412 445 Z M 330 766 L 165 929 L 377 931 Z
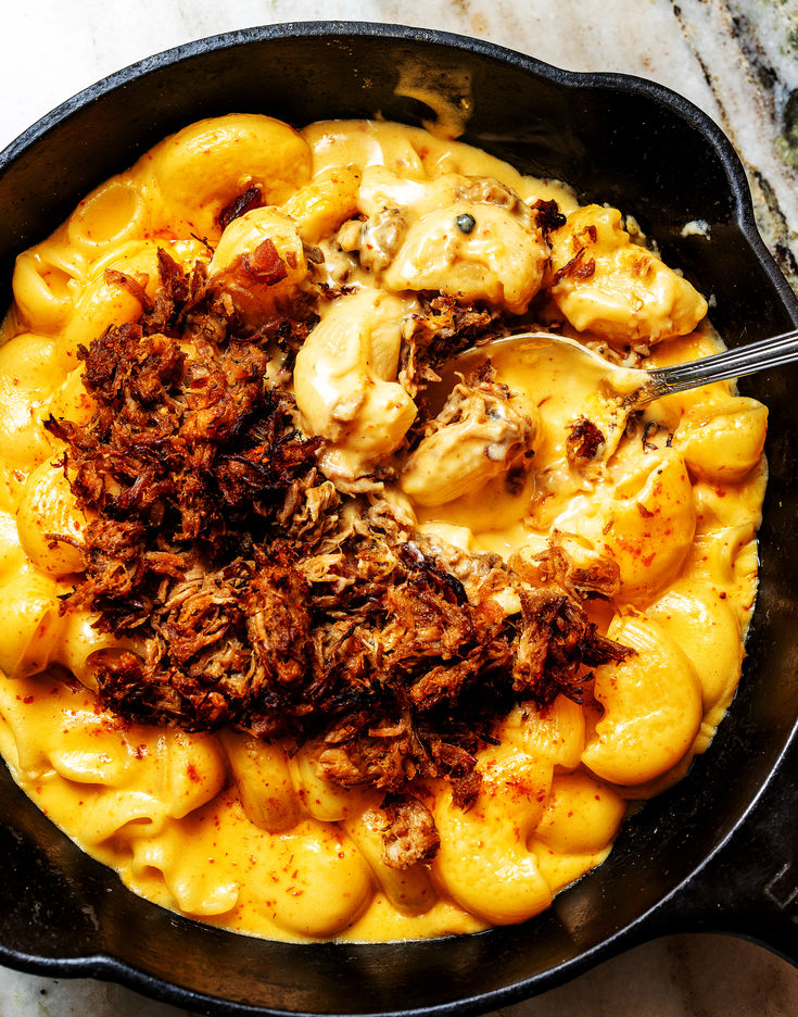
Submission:
M 666 260 L 715 294 L 712 316 L 730 344 L 798 325 L 798 301 L 753 225 L 740 164 L 686 100 L 632 77 L 569 74 L 485 42 L 384 25 L 281 25 L 206 39 L 64 103 L 0 154 L 0 278 L 90 188 L 200 117 L 253 111 L 302 125 L 381 113 L 419 124 L 430 110 L 394 93 L 407 66 L 430 81 L 441 71 L 456 72 L 449 81 L 470 77 L 466 141 L 567 180 L 582 200 L 634 213 Z M 707 221 L 711 239 L 681 236 L 694 218 Z M 0 962 L 98 975 L 219 1015 L 479 1013 L 671 931 L 733 932 L 798 964 L 797 373 L 782 368 L 745 390 L 771 409 L 771 481 L 739 693 L 710 752 L 549 912 L 520 927 L 408 944 L 230 936 L 128 893 L 3 769 Z

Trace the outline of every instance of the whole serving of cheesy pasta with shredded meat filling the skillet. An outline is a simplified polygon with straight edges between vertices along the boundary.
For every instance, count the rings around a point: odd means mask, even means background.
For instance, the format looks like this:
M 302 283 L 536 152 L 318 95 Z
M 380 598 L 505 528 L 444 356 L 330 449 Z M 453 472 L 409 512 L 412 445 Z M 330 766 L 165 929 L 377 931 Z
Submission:
M 765 407 L 717 382 L 608 415 L 590 365 L 493 342 L 715 352 L 625 226 L 420 129 L 236 114 L 20 254 L 0 751 L 131 890 L 282 940 L 523 921 L 709 746 Z

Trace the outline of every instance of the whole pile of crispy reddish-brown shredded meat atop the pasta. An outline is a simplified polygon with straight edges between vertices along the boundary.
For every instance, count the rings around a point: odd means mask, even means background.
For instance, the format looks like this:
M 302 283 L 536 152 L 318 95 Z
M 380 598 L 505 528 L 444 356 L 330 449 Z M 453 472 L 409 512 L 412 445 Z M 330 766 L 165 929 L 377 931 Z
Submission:
M 275 256 L 258 249 L 230 285 L 276 279 Z M 427 859 L 438 834 L 414 781 L 445 779 L 468 807 L 496 720 L 522 701 L 579 701 L 587 668 L 631 651 L 546 587 L 568 578 L 556 555 L 537 588 L 496 556 L 432 545 L 388 501 L 344 503 L 269 380 L 312 304 L 253 330 L 202 264 L 186 275 L 163 251 L 159 264 L 138 323 L 79 350 L 91 419 L 47 425 L 91 518 L 63 610 L 99 612 L 129 648 L 97 655 L 100 702 L 138 721 L 306 743 L 328 780 L 389 795 L 388 864 Z M 416 350 L 428 364 L 494 319 L 448 298 L 429 306 L 441 323 Z M 502 606 L 508 592 L 521 611 Z

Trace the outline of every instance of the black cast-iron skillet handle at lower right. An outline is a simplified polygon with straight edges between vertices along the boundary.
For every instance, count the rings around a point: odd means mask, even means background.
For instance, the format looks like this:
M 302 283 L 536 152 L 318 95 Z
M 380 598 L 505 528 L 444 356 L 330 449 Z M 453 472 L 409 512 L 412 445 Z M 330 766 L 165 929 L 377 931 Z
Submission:
M 753 809 L 664 903 L 657 932 L 729 932 L 798 967 L 798 749 L 789 746 Z

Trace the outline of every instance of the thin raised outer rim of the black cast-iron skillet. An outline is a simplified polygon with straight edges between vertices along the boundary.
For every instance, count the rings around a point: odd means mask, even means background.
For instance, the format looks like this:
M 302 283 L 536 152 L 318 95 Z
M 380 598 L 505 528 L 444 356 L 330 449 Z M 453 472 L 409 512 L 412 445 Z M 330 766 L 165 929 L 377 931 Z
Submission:
M 426 29 L 406 25 L 394 25 L 380 22 L 352 22 L 352 21 L 312 21 L 287 22 L 276 25 L 263 25 L 252 28 L 237 29 L 193 40 L 181 46 L 173 47 L 152 56 L 144 58 L 134 64 L 105 76 L 93 85 L 88 86 L 69 99 L 59 104 L 51 112 L 45 114 L 35 124 L 14 139 L 0 152 L 0 176 L 13 162 L 40 138 L 56 130 L 78 111 L 90 105 L 103 96 L 124 87 L 132 79 L 143 78 L 150 73 L 164 67 L 189 61 L 206 52 L 220 52 L 235 50 L 250 42 L 263 42 L 278 39 L 303 38 L 383 38 L 405 42 L 423 42 L 440 45 L 455 50 L 470 52 L 480 56 L 490 58 L 501 63 L 510 64 L 518 70 L 567 89 L 611 88 L 621 92 L 636 93 L 669 106 L 681 118 L 697 128 L 706 140 L 708 147 L 720 158 L 726 180 L 729 193 L 733 199 L 733 219 L 751 254 L 768 275 L 775 293 L 781 300 L 787 315 L 798 326 L 798 298 L 794 293 L 786 278 L 780 271 L 774 258 L 765 248 L 756 225 L 753 205 L 748 188 L 745 170 L 739 156 L 734 150 L 725 134 L 704 111 L 688 99 L 668 88 L 667 86 L 630 74 L 616 72 L 575 72 L 566 71 L 553 64 L 545 63 L 536 58 L 519 53 L 506 47 L 468 36 L 436 29 Z M 786 736 L 782 751 L 778 753 L 769 775 L 758 787 L 757 792 L 748 801 L 738 818 L 731 825 L 726 836 L 706 854 L 701 862 L 691 872 L 656 904 L 638 915 L 634 920 L 622 926 L 615 934 L 603 942 L 580 952 L 577 956 L 566 960 L 547 971 L 531 978 L 515 982 L 511 985 L 492 989 L 485 993 L 470 995 L 455 1002 L 427 1005 L 413 1009 L 381 1009 L 375 1014 L 384 1017 L 406 1017 L 410 1014 L 443 1015 L 452 1013 L 477 1014 L 497 1006 L 505 1006 L 530 994 L 539 994 L 555 988 L 575 977 L 600 960 L 608 959 L 635 943 L 643 942 L 658 934 L 656 928 L 650 926 L 653 915 L 662 911 L 670 902 L 679 896 L 682 889 L 692 882 L 707 868 L 707 866 L 723 851 L 734 834 L 743 827 L 746 819 L 756 808 L 767 789 L 771 787 L 785 756 L 795 748 L 798 733 L 798 718 L 794 721 Z M 63 836 L 63 834 L 62 834 Z M 97 863 L 98 865 L 100 863 Z M 128 891 L 129 892 L 129 891 Z M 152 905 L 156 906 L 156 905 Z M 178 916 L 179 917 L 179 916 Z M 181 919 L 187 920 L 188 919 Z M 192 922 L 192 925 L 194 925 Z M 490 934 L 490 930 L 477 936 Z M 407 949 L 413 950 L 420 943 L 408 943 Z M 321 943 L 316 949 L 340 951 L 352 949 L 350 943 Z M 369 944 L 368 949 L 379 949 L 380 944 Z M 233 1003 L 217 996 L 212 996 L 195 990 L 182 988 L 174 982 L 166 982 L 161 978 L 149 975 L 131 963 L 121 959 L 110 953 L 96 953 L 79 957 L 41 957 L 10 950 L 0 944 L 0 962 L 21 970 L 35 971 L 62 977 L 104 977 L 126 984 L 137 991 L 169 1002 L 178 1006 L 197 1008 L 198 1006 L 213 1006 L 213 1013 L 225 1017 L 244 1017 L 244 1015 L 274 1014 L 291 1015 L 291 1017 L 313 1017 L 311 1012 L 284 1010 L 264 1008 L 245 1003 Z M 210 1013 L 210 1010 L 206 1010 Z M 332 1015 L 329 1015 L 332 1017 Z

